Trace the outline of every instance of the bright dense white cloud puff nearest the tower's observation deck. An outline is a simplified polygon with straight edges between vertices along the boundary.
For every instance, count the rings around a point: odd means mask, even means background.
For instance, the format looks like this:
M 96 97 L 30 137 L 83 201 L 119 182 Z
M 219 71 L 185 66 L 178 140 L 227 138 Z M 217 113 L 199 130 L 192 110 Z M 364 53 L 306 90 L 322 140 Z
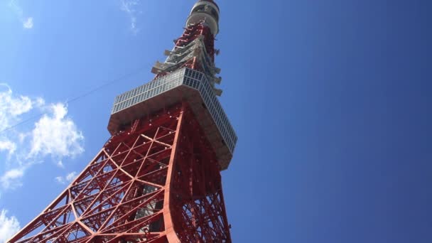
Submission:
M 64 157 L 82 153 L 84 148 L 81 143 L 84 136 L 77 130 L 75 123 L 65 117 L 68 114 L 65 104 L 52 104 L 50 109 L 52 115 L 43 115 L 35 124 L 29 156 Z

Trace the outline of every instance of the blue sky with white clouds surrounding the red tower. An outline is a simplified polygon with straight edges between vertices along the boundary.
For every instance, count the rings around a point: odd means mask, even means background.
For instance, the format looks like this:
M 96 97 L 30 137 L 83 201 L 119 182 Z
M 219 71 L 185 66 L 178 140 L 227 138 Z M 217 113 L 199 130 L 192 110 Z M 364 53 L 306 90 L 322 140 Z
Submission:
M 0 242 L 95 156 L 193 3 L 0 1 L 0 128 L 36 116 L 0 134 Z M 431 242 L 431 2 L 218 4 L 234 242 Z

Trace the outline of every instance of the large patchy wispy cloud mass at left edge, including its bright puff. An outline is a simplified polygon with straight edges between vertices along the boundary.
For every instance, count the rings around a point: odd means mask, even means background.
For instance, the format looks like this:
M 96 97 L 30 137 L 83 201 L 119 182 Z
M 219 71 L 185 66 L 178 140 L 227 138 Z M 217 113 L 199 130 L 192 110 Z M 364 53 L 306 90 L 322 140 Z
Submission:
M 9 129 L 31 112 L 45 112 L 33 126 Z M 26 171 L 46 159 L 63 167 L 63 158 L 74 157 L 84 151 L 84 136 L 68 117 L 63 103 L 45 104 L 41 97 L 33 99 L 15 95 L 6 84 L 0 83 L 0 191 L 17 188 Z M 68 178 L 66 176 L 65 178 Z

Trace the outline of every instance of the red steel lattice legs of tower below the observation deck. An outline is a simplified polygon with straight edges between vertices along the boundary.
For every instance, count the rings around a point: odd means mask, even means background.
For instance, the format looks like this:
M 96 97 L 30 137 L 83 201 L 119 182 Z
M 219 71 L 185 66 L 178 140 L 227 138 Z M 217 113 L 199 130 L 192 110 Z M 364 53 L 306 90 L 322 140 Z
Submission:
M 219 169 L 177 104 L 114 134 L 9 242 L 231 242 Z

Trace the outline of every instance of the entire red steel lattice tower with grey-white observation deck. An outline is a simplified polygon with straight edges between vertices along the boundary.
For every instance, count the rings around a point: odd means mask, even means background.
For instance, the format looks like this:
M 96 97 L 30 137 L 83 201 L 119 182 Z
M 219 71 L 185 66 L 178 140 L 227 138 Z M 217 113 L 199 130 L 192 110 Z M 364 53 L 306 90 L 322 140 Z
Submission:
M 156 77 L 114 100 L 112 135 L 9 242 L 231 242 L 220 171 L 237 136 L 215 87 L 219 7 L 200 0 Z

